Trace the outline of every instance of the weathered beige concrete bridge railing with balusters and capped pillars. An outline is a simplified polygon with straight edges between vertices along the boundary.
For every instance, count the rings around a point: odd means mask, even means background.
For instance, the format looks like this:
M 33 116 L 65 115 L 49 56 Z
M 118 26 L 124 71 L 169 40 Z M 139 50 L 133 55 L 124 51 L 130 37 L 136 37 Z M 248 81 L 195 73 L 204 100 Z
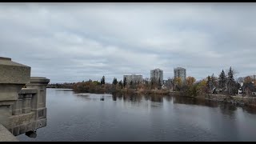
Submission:
M 0 57 L 0 124 L 14 136 L 46 126 L 49 82 L 47 78 L 30 77 L 30 66 Z

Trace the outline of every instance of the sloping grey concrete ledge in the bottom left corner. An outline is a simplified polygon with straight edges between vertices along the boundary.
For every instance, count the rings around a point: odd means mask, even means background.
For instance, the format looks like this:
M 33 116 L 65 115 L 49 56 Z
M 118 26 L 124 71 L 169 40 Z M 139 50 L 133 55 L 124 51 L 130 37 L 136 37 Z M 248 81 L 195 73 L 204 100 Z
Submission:
M 18 139 L 0 124 L 0 142 L 18 142 Z

